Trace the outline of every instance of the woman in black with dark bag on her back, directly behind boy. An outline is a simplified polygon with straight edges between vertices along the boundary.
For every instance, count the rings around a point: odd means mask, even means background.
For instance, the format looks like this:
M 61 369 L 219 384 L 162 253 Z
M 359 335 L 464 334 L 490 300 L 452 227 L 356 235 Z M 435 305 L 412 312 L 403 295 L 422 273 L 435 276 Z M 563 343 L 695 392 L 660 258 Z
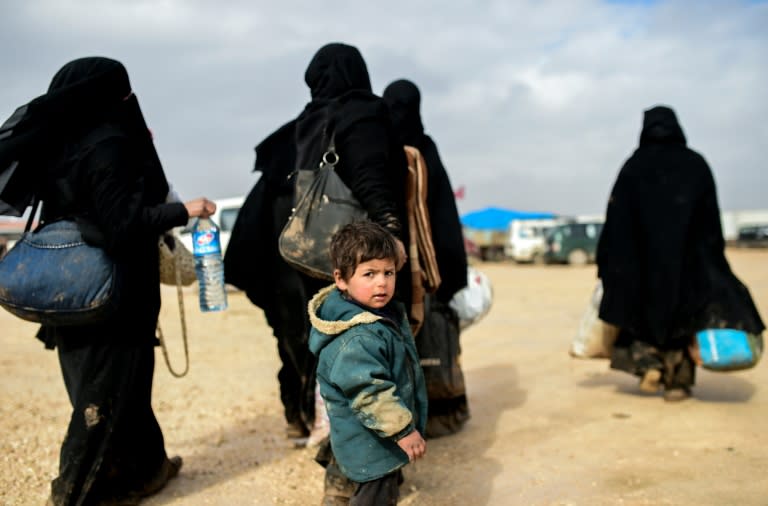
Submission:
M 327 282 L 289 267 L 277 241 L 296 197 L 291 175 L 295 169 L 317 167 L 327 148 L 327 126 L 336 132 L 336 171 L 369 218 L 401 241 L 407 237 L 405 155 L 392 132 L 386 104 L 371 91 L 362 55 L 346 44 L 327 44 L 313 56 L 304 80 L 312 100 L 298 118 L 256 147 L 255 170 L 262 175 L 238 216 L 224 259 L 227 282 L 245 290 L 264 310 L 277 338 L 280 395 L 291 437 L 306 436 L 314 422 L 315 361 L 307 346 L 306 307 Z M 398 277 L 404 301 L 410 300 L 409 286 L 404 268 Z M 296 318 L 298 314 L 303 318 Z

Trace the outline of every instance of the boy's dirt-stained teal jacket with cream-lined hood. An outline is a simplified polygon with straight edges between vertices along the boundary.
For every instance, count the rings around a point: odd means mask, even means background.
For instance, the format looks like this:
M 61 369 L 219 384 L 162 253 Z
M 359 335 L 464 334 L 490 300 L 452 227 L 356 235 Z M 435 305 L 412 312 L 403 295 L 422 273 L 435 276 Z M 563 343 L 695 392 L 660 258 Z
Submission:
M 424 434 L 427 389 L 405 311 L 395 322 L 344 299 L 335 286 L 309 303 L 309 349 L 331 422 L 331 448 L 349 479 L 381 478 L 408 463 L 397 441 Z

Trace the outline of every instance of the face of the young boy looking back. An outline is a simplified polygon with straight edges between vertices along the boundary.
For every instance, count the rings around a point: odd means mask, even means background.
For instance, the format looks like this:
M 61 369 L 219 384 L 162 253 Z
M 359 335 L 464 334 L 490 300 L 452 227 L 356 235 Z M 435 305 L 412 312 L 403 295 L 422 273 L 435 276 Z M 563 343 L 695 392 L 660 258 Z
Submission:
M 386 306 L 395 294 L 395 261 L 391 258 L 368 260 L 358 264 L 349 279 L 336 269 L 336 287 L 352 299 L 372 309 Z

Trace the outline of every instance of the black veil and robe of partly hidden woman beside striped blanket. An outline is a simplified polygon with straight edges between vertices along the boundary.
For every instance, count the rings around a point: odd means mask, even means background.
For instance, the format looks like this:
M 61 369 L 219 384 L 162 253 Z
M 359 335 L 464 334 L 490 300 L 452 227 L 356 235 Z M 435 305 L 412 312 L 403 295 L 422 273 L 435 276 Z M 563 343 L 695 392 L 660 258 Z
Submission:
M 467 255 L 453 186 L 437 146 L 424 133 L 419 88 L 411 81 L 399 79 L 384 89 L 382 97 L 389 106 L 400 142 L 418 148 L 427 164 L 427 209 L 441 278 L 437 298 L 448 302 L 467 285 Z

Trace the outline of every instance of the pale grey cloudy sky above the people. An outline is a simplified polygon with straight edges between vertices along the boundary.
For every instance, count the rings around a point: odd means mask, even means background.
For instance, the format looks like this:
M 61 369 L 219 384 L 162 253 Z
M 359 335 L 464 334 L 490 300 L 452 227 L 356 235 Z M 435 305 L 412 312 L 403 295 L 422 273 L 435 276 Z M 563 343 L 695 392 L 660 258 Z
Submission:
M 644 109 L 671 105 L 725 210 L 768 208 L 767 1 L 24 0 L 0 3 L 0 116 L 67 61 L 128 68 L 183 197 L 242 195 L 253 147 L 357 46 L 374 91 L 407 77 L 462 213 L 599 213 Z

